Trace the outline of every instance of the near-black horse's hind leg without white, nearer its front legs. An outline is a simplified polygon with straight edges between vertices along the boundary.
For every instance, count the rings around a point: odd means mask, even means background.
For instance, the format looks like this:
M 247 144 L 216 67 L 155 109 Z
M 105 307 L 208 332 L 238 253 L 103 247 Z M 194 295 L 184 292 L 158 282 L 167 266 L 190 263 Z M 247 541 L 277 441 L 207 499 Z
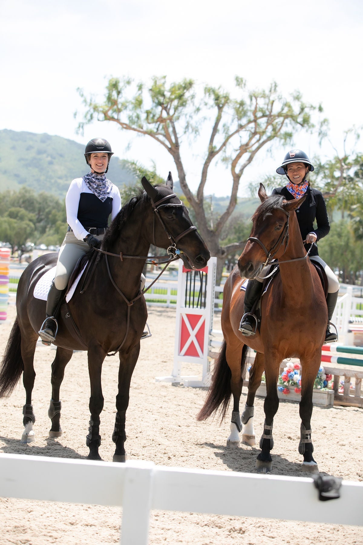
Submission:
M 58 347 L 56 357 L 52 363 L 52 398 L 48 409 L 48 416 L 51 419 L 52 427 L 49 431 L 49 437 L 60 437 L 63 433 L 60 427 L 61 401 L 59 399 L 59 390 L 64 378 L 65 366 L 72 358 L 72 354 L 73 350 Z

